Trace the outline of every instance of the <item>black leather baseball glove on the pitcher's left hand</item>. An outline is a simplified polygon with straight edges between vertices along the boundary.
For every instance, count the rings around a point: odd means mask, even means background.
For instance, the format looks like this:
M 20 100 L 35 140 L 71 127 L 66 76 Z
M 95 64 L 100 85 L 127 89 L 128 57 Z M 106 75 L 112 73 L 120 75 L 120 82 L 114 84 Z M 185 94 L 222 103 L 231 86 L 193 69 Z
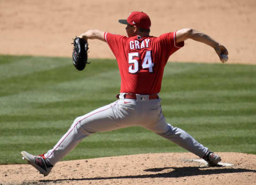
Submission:
M 88 42 L 80 37 L 76 37 L 74 40 L 74 48 L 73 48 L 73 64 L 76 67 L 77 70 L 82 71 L 87 62 L 88 58 Z

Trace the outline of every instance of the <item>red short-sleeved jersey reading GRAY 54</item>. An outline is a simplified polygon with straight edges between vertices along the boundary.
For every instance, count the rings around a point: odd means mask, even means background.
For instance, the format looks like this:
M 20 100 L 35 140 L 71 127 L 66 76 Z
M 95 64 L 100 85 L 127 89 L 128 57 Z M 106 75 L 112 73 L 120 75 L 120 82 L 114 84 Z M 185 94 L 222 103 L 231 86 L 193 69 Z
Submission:
M 127 38 L 105 32 L 121 76 L 121 93 L 155 94 L 161 90 L 164 67 L 170 55 L 183 47 L 175 42 L 176 31 L 159 37 Z

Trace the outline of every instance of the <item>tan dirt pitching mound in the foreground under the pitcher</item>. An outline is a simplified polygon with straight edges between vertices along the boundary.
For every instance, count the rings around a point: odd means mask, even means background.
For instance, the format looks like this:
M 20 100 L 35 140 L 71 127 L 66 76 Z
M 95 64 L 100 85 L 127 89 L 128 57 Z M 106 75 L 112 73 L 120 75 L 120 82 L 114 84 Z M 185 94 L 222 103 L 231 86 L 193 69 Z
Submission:
M 48 176 L 31 165 L 0 165 L 2 184 L 256 184 L 256 155 L 218 152 L 206 167 L 191 153 L 140 154 L 57 163 Z

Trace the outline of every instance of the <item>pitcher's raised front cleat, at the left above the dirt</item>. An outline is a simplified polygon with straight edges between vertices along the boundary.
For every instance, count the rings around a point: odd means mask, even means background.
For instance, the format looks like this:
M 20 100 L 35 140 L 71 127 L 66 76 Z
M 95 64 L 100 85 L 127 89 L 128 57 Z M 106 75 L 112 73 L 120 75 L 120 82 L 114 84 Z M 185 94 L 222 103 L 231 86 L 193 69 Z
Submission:
M 44 176 L 47 176 L 51 172 L 53 165 L 47 164 L 44 155 L 34 156 L 26 151 L 22 151 L 21 155 L 23 156 L 22 159 L 27 160 L 29 164 L 34 166 L 36 170 L 38 170 Z

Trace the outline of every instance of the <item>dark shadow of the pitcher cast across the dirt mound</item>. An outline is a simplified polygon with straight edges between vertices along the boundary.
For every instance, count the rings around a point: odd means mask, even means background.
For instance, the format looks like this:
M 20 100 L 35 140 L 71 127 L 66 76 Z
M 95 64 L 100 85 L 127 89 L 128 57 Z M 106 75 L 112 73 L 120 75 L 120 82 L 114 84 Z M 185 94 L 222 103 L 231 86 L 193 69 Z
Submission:
M 107 176 L 97 178 L 81 178 L 81 179 L 56 179 L 56 180 L 40 180 L 40 182 L 57 182 L 57 181 L 87 181 L 87 180 L 107 180 L 107 179 L 145 179 L 145 178 L 181 178 L 185 176 L 225 174 L 225 173 L 243 173 L 256 172 L 256 170 L 248 170 L 243 168 L 209 168 L 209 167 L 163 167 L 149 168 L 145 172 L 161 172 L 173 169 L 171 172 L 152 173 L 145 175 L 125 175 L 125 176 Z

